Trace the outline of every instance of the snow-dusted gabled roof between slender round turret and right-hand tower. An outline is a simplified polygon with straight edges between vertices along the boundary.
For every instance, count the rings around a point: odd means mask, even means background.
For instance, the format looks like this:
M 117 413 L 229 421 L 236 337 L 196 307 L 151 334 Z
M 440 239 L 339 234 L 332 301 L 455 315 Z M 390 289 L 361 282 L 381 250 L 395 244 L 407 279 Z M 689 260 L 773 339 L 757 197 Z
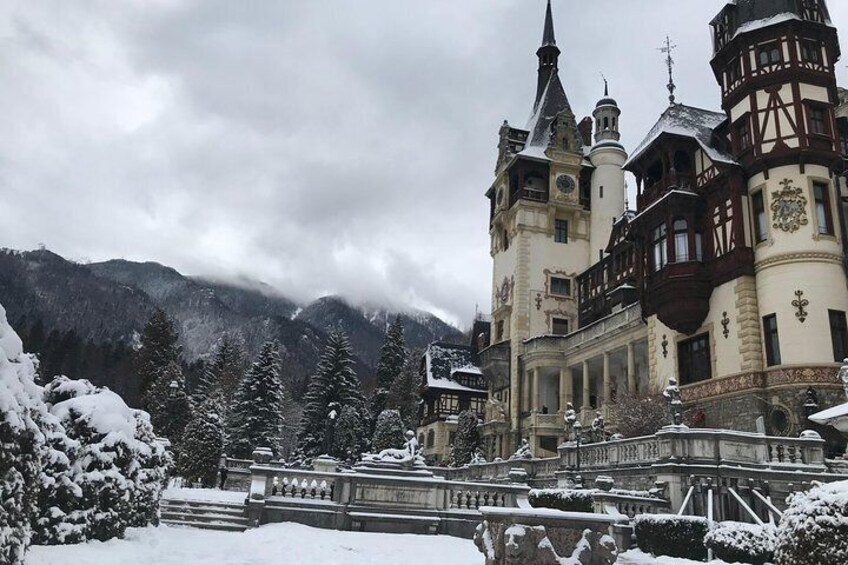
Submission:
M 637 161 L 663 134 L 694 139 L 714 162 L 736 164 L 733 157 L 713 146 L 713 131 L 726 119 L 723 112 L 672 104 L 662 113 L 624 166 L 626 168 Z

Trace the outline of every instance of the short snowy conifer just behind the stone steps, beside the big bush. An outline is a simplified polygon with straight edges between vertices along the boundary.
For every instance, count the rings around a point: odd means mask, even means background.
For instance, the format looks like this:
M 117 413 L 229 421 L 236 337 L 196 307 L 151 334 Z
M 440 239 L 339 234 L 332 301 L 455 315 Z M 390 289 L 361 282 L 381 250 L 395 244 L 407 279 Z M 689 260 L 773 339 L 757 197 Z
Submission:
M 216 396 L 212 396 L 195 409 L 186 426 L 177 472 L 190 482 L 199 481 L 204 487 L 214 487 L 223 448 L 221 405 Z

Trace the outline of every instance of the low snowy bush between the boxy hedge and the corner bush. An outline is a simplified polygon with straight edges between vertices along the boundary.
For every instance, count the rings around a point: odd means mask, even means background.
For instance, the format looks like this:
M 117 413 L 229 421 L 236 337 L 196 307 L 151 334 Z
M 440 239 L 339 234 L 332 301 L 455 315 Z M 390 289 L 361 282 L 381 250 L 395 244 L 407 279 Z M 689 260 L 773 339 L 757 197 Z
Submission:
M 774 526 L 721 522 L 704 537 L 713 554 L 728 563 L 763 565 L 774 556 Z

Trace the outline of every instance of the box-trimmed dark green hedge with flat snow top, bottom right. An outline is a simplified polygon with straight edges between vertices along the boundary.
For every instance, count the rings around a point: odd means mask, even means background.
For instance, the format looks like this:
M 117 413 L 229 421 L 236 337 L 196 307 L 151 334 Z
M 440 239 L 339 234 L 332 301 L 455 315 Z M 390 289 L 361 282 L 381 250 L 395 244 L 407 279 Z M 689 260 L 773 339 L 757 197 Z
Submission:
M 709 521 L 700 516 L 641 514 L 635 520 L 636 543 L 645 553 L 703 561 Z

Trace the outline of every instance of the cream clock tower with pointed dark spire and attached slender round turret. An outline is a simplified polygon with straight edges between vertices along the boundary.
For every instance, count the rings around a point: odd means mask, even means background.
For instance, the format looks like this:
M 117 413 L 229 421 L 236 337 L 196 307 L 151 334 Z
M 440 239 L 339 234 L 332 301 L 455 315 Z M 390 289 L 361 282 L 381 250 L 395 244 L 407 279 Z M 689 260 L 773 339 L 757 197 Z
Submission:
M 584 118 L 578 124 L 560 81 L 560 54 L 549 1 L 542 45 L 536 52 L 532 116 L 524 128 L 508 122 L 501 126 L 495 180 L 487 192 L 494 263 L 488 345 L 502 354 L 499 363 L 488 367 L 484 363 L 484 371 L 492 401 L 508 414 L 495 448 L 506 456 L 521 438 L 541 437 L 539 429 L 522 428 L 531 413 L 551 415 L 556 429 L 549 430 L 553 434 L 549 439 L 556 441 L 561 434 L 562 418 L 554 416 L 565 406 L 556 401 L 539 405 L 539 398 L 556 394 L 540 395 L 537 385 L 531 384 L 537 381 L 524 374 L 524 341 L 577 329 L 575 279 L 598 260 L 599 251 L 607 247 L 613 218 L 624 209 L 621 165 L 626 154 L 617 142 L 618 107 L 609 97 L 598 104 L 600 123 L 611 119 L 614 125 L 601 129 L 592 147 L 593 120 Z M 600 215 L 597 224 L 595 208 Z

